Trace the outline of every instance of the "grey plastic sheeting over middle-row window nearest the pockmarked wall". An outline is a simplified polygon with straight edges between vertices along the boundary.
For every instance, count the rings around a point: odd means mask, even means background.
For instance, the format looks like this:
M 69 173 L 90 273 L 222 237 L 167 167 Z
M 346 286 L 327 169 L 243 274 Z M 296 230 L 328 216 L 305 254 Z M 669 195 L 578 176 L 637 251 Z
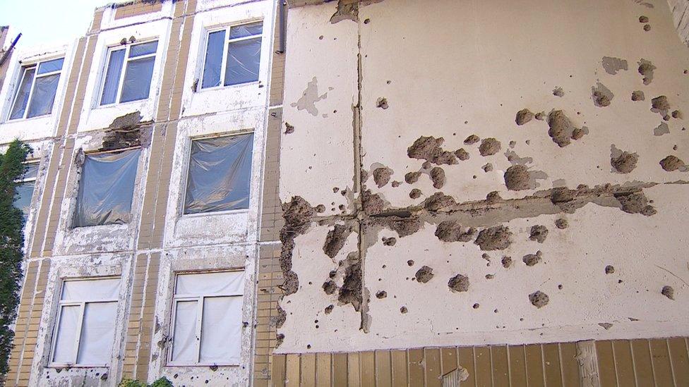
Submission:
M 253 133 L 191 142 L 184 214 L 248 207 Z

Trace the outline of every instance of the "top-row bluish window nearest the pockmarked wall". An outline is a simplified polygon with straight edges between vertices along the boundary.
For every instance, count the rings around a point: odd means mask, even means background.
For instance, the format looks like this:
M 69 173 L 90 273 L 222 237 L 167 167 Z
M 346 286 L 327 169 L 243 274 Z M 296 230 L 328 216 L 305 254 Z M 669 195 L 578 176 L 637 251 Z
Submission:
M 201 88 L 256 82 L 262 33 L 260 22 L 208 32 Z

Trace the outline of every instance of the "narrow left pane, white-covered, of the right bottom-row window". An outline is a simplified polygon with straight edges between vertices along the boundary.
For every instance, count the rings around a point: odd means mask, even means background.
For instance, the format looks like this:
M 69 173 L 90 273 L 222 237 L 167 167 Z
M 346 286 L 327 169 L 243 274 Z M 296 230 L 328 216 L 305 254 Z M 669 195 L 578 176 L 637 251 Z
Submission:
M 179 301 L 174 315 L 172 333 L 172 361 L 196 363 L 196 317 L 197 301 Z

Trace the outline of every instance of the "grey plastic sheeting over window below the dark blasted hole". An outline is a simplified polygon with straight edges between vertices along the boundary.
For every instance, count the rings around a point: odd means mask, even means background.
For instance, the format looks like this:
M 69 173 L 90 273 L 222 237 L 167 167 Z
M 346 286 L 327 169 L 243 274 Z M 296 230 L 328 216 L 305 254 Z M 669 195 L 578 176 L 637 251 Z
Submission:
M 87 155 L 74 214 L 74 227 L 127 223 L 140 149 Z

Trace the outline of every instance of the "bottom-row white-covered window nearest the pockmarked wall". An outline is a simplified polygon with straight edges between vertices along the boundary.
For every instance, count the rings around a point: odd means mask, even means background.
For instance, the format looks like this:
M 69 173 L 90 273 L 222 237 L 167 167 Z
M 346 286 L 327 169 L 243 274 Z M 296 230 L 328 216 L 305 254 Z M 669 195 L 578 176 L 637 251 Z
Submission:
M 171 365 L 239 364 L 244 271 L 178 274 Z

